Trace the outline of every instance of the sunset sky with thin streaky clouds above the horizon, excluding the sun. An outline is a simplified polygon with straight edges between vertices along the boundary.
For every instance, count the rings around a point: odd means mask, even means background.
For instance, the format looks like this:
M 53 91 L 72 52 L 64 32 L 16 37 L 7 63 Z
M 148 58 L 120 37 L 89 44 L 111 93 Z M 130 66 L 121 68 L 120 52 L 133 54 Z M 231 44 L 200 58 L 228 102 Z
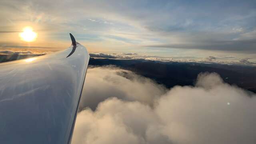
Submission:
M 91 53 L 255 64 L 254 0 L 1 0 L 0 49 L 57 51 L 69 33 Z M 38 34 L 24 42 L 26 26 Z

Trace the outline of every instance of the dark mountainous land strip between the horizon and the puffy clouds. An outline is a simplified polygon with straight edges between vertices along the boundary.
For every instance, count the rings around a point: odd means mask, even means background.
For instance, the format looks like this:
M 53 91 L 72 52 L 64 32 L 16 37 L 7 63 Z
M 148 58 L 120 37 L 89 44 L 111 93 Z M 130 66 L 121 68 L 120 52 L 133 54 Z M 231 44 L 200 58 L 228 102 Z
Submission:
M 164 84 L 167 88 L 175 85 L 194 85 L 200 72 L 216 72 L 225 82 L 256 93 L 256 67 L 252 66 L 108 58 L 90 58 L 89 62 L 89 65 L 93 66 L 110 64 L 151 78 L 159 84 Z

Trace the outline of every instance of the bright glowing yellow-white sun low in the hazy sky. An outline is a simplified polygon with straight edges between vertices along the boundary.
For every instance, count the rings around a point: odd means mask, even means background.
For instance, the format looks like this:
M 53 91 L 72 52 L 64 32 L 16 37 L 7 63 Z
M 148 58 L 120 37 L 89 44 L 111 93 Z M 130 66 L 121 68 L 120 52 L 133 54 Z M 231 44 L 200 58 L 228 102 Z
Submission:
M 26 26 L 20 33 L 20 38 L 25 42 L 33 42 L 37 38 L 37 33 L 30 26 Z

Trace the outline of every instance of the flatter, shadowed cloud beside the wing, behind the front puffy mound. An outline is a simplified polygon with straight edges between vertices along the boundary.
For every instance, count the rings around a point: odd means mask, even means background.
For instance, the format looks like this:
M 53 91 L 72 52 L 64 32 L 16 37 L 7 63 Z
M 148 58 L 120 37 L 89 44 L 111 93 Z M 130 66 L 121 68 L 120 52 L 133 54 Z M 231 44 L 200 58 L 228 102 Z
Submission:
M 153 105 L 156 97 L 165 92 L 164 86 L 128 70 L 114 66 L 89 68 L 80 109 L 88 106 L 94 110 L 109 97 Z

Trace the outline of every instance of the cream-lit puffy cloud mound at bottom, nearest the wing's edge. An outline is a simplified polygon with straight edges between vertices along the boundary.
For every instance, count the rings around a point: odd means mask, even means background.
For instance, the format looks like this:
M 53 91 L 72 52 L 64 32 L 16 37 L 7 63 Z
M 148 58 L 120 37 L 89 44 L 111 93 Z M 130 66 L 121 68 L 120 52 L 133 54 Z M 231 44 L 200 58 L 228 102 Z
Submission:
M 160 140 L 157 143 L 169 142 L 155 128 L 159 126 L 158 121 L 156 113 L 147 105 L 110 98 L 100 103 L 95 112 L 86 109 L 78 114 L 72 143 L 153 144 L 157 138 Z

